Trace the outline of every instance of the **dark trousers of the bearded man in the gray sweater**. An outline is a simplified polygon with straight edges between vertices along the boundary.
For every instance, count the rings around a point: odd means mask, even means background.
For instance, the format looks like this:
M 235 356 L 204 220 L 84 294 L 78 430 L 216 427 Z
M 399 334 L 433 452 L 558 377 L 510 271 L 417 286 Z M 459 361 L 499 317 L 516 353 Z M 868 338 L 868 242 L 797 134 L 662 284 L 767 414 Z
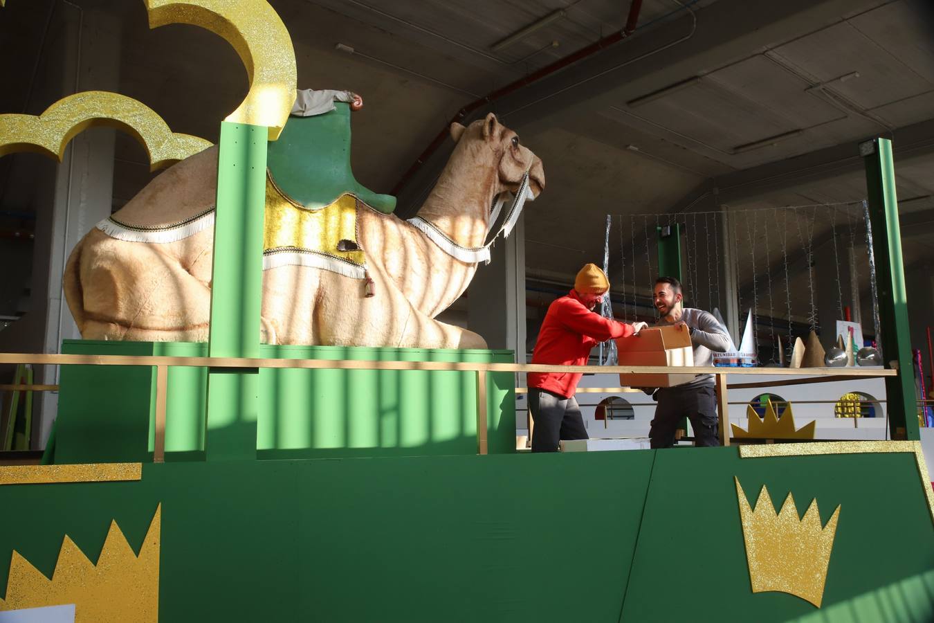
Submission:
M 658 406 L 648 432 L 652 447 L 674 446 L 674 432 L 681 418 L 691 420 L 695 446 L 720 445 L 716 434 L 716 394 L 713 387 L 659 388 L 655 398 Z

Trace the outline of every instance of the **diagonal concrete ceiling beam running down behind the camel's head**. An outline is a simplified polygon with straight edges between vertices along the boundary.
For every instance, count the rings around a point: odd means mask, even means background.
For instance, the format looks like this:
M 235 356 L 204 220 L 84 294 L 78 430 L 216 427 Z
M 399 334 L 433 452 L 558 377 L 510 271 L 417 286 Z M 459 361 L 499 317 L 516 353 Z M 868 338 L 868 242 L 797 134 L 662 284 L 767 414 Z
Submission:
M 695 78 L 879 4 L 879 0 L 718 0 L 491 101 L 463 122 L 492 111 L 517 131 L 530 124 L 539 128 L 558 124 Z M 399 205 L 419 205 L 444 168 L 450 149 L 450 145 L 437 149 L 425 159 L 398 193 Z

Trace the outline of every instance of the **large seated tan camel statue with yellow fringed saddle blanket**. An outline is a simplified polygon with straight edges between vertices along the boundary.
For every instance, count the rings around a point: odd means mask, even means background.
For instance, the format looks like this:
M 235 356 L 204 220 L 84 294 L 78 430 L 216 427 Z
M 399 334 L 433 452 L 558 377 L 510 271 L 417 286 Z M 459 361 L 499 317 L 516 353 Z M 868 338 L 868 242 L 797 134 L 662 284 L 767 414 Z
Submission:
M 470 284 L 497 198 L 538 196 L 545 173 L 492 114 L 450 134 L 454 152 L 411 221 L 360 192 L 309 209 L 270 174 L 263 343 L 486 347 L 434 317 Z M 217 148 L 175 164 L 81 239 L 64 293 L 85 339 L 207 341 L 217 166 Z

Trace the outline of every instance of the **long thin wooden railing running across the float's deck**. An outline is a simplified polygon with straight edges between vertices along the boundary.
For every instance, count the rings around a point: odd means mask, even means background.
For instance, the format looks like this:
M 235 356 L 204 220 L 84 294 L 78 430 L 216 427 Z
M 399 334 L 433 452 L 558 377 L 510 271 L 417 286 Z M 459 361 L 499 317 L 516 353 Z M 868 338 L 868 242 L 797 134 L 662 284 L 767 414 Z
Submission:
M 428 370 L 474 372 L 476 374 L 476 446 L 477 454 L 487 454 L 487 373 L 509 372 L 557 372 L 601 375 L 664 375 L 692 374 L 716 375 L 717 412 L 720 418 L 720 442 L 729 446 L 728 389 L 774 387 L 802 383 L 826 383 L 851 378 L 878 378 L 894 376 L 896 370 L 860 368 L 728 368 L 728 367 L 677 367 L 667 366 L 621 366 L 621 365 L 543 365 L 535 363 L 466 363 L 460 361 L 359 361 L 321 359 L 250 359 L 236 357 L 161 357 L 124 355 L 35 355 L 24 353 L 0 353 L 0 364 L 32 363 L 34 365 L 141 365 L 156 369 L 156 418 L 153 461 L 165 460 L 165 404 L 168 369 L 173 366 L 196 368 L 278 368 L 306 370 Z M 811 378 L 787 379 L 734 384 L 728 387 L 727 375 L 770 375 L 809 376 Z M 23 386 L 25 387 L 25 386 Z M 49 389 L 54 386 L 35 386 Z M 593 391 L 598 388 L 588 388 Z M 599 390 L 617 388 L 599 388 Z M 585 390 L 584 388 L 580 390 Z

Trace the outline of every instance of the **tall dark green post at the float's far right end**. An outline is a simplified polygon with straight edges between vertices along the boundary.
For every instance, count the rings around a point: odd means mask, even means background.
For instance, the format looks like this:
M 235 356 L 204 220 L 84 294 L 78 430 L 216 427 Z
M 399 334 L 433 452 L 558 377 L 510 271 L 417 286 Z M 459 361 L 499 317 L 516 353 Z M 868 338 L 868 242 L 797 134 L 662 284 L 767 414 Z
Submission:
M 879 290 L 882 344 L 878 346 L 883 361 L 898 361 L 899 365 L 899 375 L 885 378 L 889 432 L 892 439 L 920 439 L 892 142 L 887 138 L 867 141 L 860 144 L 859 154 L 866 163 L 866 191 Z

